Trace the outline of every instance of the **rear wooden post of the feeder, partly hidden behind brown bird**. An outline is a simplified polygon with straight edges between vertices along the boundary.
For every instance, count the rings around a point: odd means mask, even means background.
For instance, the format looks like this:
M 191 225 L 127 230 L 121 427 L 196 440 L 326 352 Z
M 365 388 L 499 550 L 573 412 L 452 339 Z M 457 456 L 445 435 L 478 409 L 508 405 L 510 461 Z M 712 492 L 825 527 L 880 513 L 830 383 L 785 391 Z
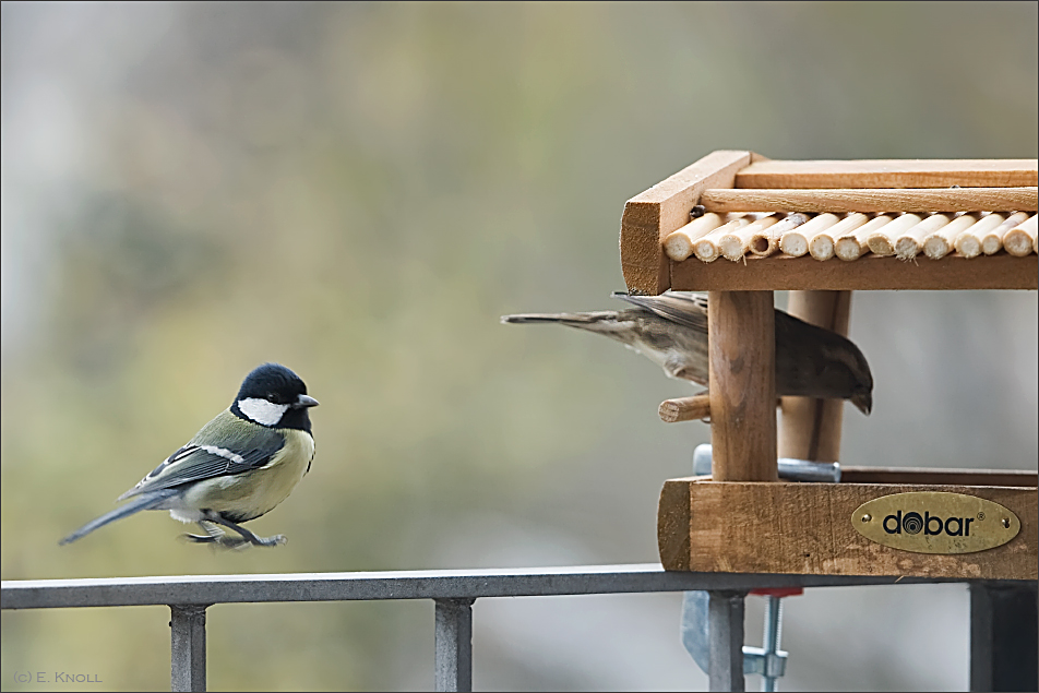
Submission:
M 787 312 L 839 335 L 848 335 L 851 291 L 790 291 Z M 779 456 L 817 462 L 840 457 L 844 401 L 784 397 Z

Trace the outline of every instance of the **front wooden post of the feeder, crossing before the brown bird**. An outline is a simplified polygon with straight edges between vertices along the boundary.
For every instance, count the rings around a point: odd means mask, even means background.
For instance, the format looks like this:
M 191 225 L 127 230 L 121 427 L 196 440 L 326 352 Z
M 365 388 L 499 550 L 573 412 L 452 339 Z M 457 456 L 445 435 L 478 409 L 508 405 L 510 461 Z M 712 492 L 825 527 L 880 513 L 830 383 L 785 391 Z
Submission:
M 776 332 L 772 291 L 707 298 L 712 477 L 776 481 Z

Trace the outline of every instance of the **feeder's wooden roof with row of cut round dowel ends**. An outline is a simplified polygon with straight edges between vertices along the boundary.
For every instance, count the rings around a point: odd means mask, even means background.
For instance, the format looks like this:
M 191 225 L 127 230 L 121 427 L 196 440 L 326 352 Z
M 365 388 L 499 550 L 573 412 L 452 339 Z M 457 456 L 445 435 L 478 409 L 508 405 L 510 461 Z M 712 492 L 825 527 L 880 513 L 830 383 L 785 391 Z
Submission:
M 714 152 L 628 201 L 621 267 L 629 291 L 645 295 L 668 289 L 1036 289 L 1037 168 L 1037 159 L 792 162 Z M 689 226 L 700 215 L 709 216 Z M 829 216 L 816 220 L 821 215 Z M 844 238 L 844 260 L 816 259 L 825 252 L 784 252 L 804 251 L 811 238 L 795 243 L 791 236 L 791 242 L 780 244 L 801 225 L 816 236 L 834 229 L 829 240 Z M 916 250 L 909 243 L 900 256 L 886 254 L 894 253 L 897 239 L 885 238 L 884 228 L 916 238 Z M 729 238 L 728 260 L 704 262 L 676 253 L 673 242 L 666 246 L 672 235 L 672 241 L 681 240 L 686 229 L 686 240 L 714 242 L 729 232 L 744 242 L 741 247 Z M 750 243 L 753 230 L 759 231 L 756 246 Z M 967 238 L 982 230 L 999 238 L 984 252 Z M 924 252 L 928 235 L 934 237 L 933 248 Z

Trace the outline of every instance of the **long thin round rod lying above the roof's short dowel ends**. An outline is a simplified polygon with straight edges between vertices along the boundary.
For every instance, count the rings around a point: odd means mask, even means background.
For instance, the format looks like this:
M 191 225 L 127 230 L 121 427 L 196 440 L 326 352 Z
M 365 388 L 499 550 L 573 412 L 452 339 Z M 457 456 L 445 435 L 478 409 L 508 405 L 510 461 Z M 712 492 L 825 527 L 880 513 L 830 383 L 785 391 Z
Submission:
M 1035 212 L 1036 188 L 742 190 L 700 196 L 708 212 Z

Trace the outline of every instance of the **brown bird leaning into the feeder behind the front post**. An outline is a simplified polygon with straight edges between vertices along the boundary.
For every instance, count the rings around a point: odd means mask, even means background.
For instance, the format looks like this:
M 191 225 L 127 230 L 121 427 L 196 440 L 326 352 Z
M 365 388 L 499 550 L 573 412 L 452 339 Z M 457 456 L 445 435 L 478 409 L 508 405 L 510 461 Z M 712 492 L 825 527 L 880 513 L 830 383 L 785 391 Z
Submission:
M 670 378 L 707 384 L 707 297 L 629 296 L 635 308 L 590 313 L 502 315 L 504 323 L 560 323 L 606 335 L 642 354 Z M 849 399 L 873 408 L 873 375 L 862 351 L 835 332 L 776 310 L 776 394 Z

